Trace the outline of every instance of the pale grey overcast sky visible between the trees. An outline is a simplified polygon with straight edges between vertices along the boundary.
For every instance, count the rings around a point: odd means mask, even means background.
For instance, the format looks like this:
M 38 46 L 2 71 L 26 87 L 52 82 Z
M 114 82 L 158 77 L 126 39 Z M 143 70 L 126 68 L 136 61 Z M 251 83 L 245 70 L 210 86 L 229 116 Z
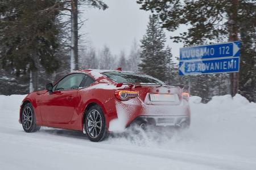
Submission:
M 94 46 L 96 50 L 108 45 L 112 54 L 118 55 L 121 50 L 126 54 L 134 39 L 138 42 L 146 33 L 149 11 L 140 10 L 136 0 L 104 0 L 109 6 L 105 11 L 96 8 L 82 8 L 81 19 L 86 22 L 81 28 L 85 33 L 82 38 L 87 45 Z M 172 35 L 176 35 L 172 33 Z M 167 43 L 171 46 L 174 57 L 179 56 L 179 48 L 183 44 L 173 43 L 170 32 L 166 31 Z

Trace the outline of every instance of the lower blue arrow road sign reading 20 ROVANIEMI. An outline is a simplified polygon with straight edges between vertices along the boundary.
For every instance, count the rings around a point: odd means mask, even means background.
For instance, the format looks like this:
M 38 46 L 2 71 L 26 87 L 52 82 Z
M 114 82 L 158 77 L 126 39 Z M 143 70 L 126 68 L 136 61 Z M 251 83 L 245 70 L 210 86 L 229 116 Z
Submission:
M 239 62 L 239 57 L 180 61 L 179 75 L 237 72 Z

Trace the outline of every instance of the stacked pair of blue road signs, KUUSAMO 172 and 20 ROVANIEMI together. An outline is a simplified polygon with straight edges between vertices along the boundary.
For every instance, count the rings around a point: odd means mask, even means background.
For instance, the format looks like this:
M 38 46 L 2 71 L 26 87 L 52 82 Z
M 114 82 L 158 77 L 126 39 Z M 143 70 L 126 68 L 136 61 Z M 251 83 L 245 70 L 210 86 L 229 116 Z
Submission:
M 180 48 L 179 75 L 239 71 L 240 41 Z

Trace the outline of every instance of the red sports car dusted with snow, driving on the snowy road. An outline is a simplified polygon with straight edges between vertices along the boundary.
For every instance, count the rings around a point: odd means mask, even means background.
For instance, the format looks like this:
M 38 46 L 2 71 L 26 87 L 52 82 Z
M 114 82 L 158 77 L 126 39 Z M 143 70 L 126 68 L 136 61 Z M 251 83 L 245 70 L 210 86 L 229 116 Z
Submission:
M 120 125 L 188 127 L 188 97 L 182 87 L 146 74 L 80 70 L 28 94 L 19 122 L 26 132 L 40 126 L 80 130 L 98 142 Z

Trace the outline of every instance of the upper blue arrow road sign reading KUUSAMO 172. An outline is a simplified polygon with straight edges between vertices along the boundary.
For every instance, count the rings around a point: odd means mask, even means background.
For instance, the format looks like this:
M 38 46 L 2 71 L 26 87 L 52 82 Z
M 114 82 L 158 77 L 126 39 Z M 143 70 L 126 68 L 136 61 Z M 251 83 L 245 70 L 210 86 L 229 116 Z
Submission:
M 240 41 L 180 48 L 180 61 L 239 56 Z

